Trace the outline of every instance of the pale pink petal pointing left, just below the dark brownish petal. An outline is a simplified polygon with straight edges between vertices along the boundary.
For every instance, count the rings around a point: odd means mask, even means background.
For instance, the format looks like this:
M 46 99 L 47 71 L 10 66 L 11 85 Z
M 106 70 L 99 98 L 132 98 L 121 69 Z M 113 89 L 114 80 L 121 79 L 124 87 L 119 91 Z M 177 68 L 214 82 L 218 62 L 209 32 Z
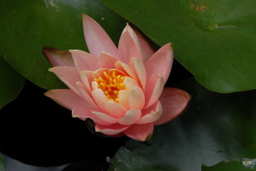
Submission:
M 64 82 L 72 91 L 79 94 L 76 89 L 76 82 L 80 81 L 80 75 L 77 71 L 76 67 L 72 66 L 55 66 L 54 68 L 50 68 L 49 71 L 52 71 L 60 78 L 62 82 Z

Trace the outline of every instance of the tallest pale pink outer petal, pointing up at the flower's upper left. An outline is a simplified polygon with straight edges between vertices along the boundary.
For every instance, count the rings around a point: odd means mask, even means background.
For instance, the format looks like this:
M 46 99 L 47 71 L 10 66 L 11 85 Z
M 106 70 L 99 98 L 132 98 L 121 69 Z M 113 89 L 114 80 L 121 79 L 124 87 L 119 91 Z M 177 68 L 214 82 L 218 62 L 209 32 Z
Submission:
M 84 38 L 90 53 L 99 57 L 101 52 L 117 56 L 117 48 L 108 34 L 91 17 L 83 13 Z

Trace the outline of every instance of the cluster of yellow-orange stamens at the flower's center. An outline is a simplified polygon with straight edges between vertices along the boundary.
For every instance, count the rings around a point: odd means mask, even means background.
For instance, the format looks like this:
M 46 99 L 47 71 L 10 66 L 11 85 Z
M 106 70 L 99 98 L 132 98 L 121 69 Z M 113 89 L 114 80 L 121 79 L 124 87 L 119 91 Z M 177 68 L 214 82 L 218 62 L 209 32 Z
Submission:
M 127 77 L 115 70 L 103 72 L 104 77 L 94 78 L 98 83 L 98 88 L 102 89 L 106 98 L 111 101 L 119 102 L 119 91 L 126 89 L 124 79 Z

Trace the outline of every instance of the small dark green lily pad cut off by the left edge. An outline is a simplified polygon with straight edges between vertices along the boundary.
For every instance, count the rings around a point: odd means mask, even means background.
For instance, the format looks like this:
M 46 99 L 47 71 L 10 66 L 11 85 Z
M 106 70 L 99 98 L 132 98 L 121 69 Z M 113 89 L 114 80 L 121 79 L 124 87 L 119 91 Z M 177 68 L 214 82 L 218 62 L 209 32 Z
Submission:
M 24 80 L 24 77 L 0 57 L 0 109 L 18 96 Z

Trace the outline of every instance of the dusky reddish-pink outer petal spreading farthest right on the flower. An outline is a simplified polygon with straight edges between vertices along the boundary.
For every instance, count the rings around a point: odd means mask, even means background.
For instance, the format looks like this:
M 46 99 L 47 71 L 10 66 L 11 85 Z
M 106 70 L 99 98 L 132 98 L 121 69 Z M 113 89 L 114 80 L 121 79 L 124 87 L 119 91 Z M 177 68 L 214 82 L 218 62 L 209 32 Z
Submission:
M 181 89 L 164 87 L 159 100 L 163 105 L 163 114 L 154 124 L 164 124 L 180 115 L 188 105 L 191 96 Z

